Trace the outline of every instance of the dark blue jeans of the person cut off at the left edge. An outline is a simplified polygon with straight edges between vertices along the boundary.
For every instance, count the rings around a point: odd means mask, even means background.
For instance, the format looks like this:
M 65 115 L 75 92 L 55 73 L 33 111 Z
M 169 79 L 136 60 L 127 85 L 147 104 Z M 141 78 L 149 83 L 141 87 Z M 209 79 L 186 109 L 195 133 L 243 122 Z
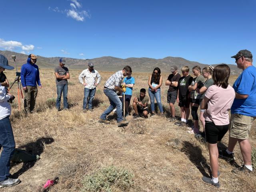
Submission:
M 7 116 L 0 120 L 0 149 L 3 147 L 0 156 L 0 181 L 10 176 L 10 160 L 15 150 L 15 141 L 12 132 L 12 125 Z

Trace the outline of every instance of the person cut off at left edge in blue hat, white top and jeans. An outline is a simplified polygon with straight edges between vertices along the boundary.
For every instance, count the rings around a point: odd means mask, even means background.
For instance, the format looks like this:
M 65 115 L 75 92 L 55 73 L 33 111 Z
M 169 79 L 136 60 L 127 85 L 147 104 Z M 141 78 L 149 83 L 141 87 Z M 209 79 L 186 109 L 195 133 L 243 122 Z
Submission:
M 3 70 L 11 70 L 14 67 L 8 65 L 8 60 L 0 54 L 0 72 Z M 10 159 L 14 154 L 15 141 L 10 122 L 11 106 L 8 103 L 10 99 L 14 99 L 11 94 L 6 94 L 4 86 L 0 83 L 0 150 L 3 148 L 0 156 L 0 188 L 10 187 L 18 184 L 19 179 L 10 178 Z

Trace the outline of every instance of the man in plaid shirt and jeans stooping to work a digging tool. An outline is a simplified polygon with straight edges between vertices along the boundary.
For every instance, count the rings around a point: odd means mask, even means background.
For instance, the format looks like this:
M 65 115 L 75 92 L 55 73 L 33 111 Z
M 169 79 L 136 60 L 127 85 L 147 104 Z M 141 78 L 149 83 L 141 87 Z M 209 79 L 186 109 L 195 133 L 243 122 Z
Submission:
M 127 74 L 131 73 L 132 68 L 130 66 L 125 66 L 123 70 L 116 72 L 108 78 L 103 91 L 110 101 L 110 106 L 108 106 L 108 108 L 101 114 L 98 122 L 110 124 L 110 121 L 106 120 L 106 117 L 112 112 L 112 110 L 114 110 L 114 108 L 116 108 L 118 126 L 127 125 L 129 123 L 128 121 L 125 121 L 122 116 L 122 102 L 116 94 L 116 91 L 123 92 L 120 87 L 122 79 L 127 76 Z

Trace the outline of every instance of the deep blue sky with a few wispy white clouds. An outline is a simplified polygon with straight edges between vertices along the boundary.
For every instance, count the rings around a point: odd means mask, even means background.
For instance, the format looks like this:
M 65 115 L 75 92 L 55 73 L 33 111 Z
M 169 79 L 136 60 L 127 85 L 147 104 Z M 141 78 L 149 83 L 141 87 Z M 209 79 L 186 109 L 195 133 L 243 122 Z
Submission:
M 45 57 L 182 57 L 235 64 L 256 54 L 255 0 L 2 0 L 0 50 Z

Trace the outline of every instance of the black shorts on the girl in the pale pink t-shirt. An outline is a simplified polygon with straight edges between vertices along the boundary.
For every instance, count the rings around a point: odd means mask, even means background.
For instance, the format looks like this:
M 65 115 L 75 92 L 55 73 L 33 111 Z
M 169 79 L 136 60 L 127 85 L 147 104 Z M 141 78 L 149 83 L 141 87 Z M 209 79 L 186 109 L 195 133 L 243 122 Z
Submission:
M 211 121 L 205 121 L 205 135 L 207 142 L 210 144 L 216 144 L 220 141 L 228 131 L 228 126 L 229 124 L 215 125 Z

